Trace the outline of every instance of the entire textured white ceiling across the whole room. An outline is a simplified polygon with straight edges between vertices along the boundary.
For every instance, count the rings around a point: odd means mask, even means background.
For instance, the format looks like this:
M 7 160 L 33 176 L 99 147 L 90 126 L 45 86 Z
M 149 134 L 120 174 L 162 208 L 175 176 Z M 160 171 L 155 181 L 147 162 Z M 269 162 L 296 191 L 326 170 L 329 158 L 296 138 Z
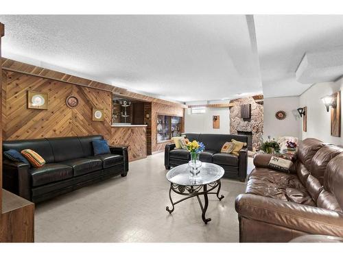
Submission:
M 334 15 L 0 16 L 3 56 L 176 101 L 300 95 L 305 52 L 343 45 Z M 328 71 L 329 72 L 329 71 Z M 338 71 L 339 73 L 339 71 Z

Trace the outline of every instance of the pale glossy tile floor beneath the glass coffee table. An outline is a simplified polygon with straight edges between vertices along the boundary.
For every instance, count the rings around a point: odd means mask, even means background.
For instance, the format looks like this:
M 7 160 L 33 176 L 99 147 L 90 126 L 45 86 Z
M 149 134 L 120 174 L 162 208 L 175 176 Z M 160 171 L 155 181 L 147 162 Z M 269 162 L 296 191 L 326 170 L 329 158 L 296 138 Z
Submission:
M 130 162 L 117 176 L 36 205 L 36 242 L 237 242 L 235 197 L 245 184 L 222 179 L 218 201 L 209 196 L 205 225 L 197 199 L 176 205 L 169 215 L 164 153 Z M 249 158 L 248 172 L 252 169 Z M 177 197 L 175 197 L 177 199 Z

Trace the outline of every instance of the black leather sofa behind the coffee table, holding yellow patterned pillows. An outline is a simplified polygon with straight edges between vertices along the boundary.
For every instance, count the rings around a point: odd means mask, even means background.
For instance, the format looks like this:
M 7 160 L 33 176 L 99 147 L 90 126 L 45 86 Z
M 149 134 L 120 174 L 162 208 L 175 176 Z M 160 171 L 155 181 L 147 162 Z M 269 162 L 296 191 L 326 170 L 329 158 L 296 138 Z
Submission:
M 205 151 L 200 154 L 202 162 L 213 162 L 223 167 L 224 178 L 235 178 L 244 182 L 246 180 L 246 169 L 248 163 L 248 148 L 244 147 L 239 151 L 239 156 L 233 154 L 222 154 L 220 150 L 225 142 L 231 139 L 248 143 L 247 136 L 230 134 L 196 134 L 187 133 L 186 138 L 190 141 L 197 140 L 205 145 Z M 165 145 L 165 169 L 185 164 L 191 160 L 189 151 L 176 149 L 174 143 Z

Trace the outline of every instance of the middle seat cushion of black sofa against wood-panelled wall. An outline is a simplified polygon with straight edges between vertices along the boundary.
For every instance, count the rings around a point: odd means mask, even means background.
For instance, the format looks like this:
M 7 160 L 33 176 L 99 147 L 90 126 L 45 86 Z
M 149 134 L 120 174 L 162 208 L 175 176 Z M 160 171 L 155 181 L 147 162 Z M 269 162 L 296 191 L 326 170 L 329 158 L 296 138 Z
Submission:
M 72 167 L 74 176 L 102 169 L 102 160 L 99 159 L 78 158 L 73 160 L 64 160 L 59 163 Z

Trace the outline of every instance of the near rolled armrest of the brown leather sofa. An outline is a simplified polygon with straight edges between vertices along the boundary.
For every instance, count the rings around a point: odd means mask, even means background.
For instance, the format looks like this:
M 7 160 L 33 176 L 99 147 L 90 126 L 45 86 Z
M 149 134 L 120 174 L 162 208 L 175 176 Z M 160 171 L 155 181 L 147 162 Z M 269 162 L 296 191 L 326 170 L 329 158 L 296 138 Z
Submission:
M 307 234 L 343 236 L 341 212 L 251 194 L 239 195 L 235 208 L 239 215 L 246 219 L 263 221 Z

